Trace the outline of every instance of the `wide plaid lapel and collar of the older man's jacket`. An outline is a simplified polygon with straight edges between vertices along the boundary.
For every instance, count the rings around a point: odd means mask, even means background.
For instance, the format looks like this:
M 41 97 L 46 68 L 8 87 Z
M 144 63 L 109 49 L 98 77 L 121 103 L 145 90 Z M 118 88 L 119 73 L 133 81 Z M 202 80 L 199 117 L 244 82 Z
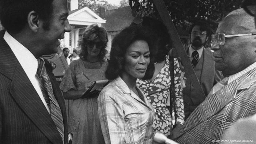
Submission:
M 227 84 L 221 90 L 215 92 L 213 95 L 208 95 L 204 102 L 202 102 L 188 119 L 179 131 L 179 134 L 174 137 L 177 138 L 192 129 L 196 125 L 202 123 L 207 118 L 216 114 L 219 110 L 225 107 L 230 101 L 234 99 L 234 96 L 238 91 L 245 90 L 253 84 L 256 79 L 256 68 L 242 75 L 233 82 Z

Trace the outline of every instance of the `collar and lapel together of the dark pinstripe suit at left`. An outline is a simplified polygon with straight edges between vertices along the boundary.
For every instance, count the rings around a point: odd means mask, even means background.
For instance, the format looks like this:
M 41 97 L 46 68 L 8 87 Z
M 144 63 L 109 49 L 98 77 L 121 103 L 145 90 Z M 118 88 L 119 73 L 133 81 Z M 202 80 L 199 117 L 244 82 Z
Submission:
M 20 109 L 52 143 L 60 143 L 62 140 L 52 118 L 11 48 L 4 41 L 4 32 L 0 32 L 0 72 L 12 81 L 11 96 Z

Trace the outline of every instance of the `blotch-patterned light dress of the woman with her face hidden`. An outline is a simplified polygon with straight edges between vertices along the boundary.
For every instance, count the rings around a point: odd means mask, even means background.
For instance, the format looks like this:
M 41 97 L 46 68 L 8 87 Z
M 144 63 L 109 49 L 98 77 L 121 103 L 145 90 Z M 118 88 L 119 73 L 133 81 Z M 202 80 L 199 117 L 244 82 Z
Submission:
M 161 71 L 152 82 L 150 80 L 137 80 L 137 86 L 144 92 L 148 102 L 154 107 L 155 120 L 153 123 L 154 131 L 160 131 L 165 136 L 170 136 L 172 131 L 172 118 L 167 109 L 167 99 L 170 95 L 170 71 L 169 56 L 166 56 L 166 62 Z M 175 103 L 172 99 L 172 105 L 176 106 L 176 124 L 184 123 L 184 103 L 181 88 L 181 71 L 178 60 L 174 58 L 174 94 Z

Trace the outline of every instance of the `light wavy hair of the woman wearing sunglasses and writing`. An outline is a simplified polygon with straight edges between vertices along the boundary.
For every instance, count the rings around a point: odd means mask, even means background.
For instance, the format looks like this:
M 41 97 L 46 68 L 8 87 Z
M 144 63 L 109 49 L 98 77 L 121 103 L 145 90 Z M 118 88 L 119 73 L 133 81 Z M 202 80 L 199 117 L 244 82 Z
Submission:
M 78 41 L 78 45 L 81 45 L 81 52 L 79 57 L 82 59 L 86 59 L 88 54 L 87 52 L 87 41 L 93 41 L 99 38 L 101 42 L 104 42 L 104 46 L 101 48 L 99 52 L 99 59 L 104 60 L 106 53 L 108 52 L 105 48 L 107 47 L 108 39 L 108 32 L 105 28 L 99 27 L 98 24 L 91 24 L 90 26 L 86 27 L 83 38 Z

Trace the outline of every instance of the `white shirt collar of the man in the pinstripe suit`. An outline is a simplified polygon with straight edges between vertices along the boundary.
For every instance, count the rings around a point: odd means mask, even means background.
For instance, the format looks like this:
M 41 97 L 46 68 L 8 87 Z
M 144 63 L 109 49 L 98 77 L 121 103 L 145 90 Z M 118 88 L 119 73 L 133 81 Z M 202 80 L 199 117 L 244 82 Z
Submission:
M 27 48 L 25 48 L 25 46 L 23 46 L 14 37 L 12 37 L 7 31 L 5 31 L 3 38 L 10 46 L 12 52 L 18 59 L 27 76 L 34 77 L 37 72 L 38 65 L 37 59 L 34 57 L 34 55 Z

